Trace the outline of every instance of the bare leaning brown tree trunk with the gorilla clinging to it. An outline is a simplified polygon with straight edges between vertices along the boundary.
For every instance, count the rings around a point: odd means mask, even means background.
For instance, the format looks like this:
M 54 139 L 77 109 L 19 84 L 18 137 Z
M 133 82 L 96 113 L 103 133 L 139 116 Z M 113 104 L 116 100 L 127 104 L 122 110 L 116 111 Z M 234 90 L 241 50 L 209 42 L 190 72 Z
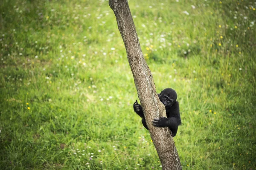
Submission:
M 166 117 L 166 111 L 157 96 L 151 71 L 140 48 L 128 1 L 109 0 L 109 6 L 116 16 L 149 133 L 161 161 L 162 169 L 181 170 L 180 158 L 169 128 L 154 127 L 151 123 L 154 118 Z

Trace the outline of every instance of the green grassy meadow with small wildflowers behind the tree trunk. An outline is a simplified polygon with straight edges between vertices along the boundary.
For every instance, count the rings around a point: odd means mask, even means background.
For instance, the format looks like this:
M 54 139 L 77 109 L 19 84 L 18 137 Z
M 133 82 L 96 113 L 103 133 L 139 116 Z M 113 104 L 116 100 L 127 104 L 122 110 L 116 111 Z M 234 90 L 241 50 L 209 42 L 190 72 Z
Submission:
M 256 169 L 256 3 L 129 0 L 183 169 Z M 160 170 L 107 0 L 0 1 L 0 169 Z

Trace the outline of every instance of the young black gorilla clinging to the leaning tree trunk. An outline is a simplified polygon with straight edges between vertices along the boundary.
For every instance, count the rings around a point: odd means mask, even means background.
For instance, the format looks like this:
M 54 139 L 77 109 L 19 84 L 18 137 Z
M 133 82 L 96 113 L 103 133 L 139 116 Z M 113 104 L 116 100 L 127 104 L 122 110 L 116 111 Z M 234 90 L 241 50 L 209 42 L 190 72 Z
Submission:
M 177 94 L 172 88 L 166 88 L 158 94 L 160 101 L 166 108 L 166 117 L 160 117 L 152 121 L 155 127 L 169 127 L 172 136 L 176 136 L 178 126 L 181 124 L 179 102 L 176 101 Z M 142 118 L 143 126 L 148 129 L 146 120 L 143 114 L 142 106 L 138 104 L 137 100 L 134 103 L 134 111 Z

